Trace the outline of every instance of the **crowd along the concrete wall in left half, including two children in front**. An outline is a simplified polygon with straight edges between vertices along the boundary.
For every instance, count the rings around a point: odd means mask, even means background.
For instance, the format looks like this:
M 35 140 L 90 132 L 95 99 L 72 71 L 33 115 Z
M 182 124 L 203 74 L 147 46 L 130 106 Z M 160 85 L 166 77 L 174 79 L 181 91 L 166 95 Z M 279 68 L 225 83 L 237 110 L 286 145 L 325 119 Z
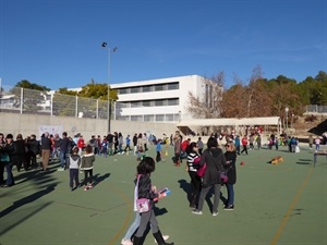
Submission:
M 22 169 L 48 171 L 49 162 L 59 161 L 58 171 L 69 169 L 71 172 L 70 187 L 72 191 L 76 187 L 73 186 L 72 180 L 80 185 L 78 179 L 76 179 L 76 169 L 84 171 L 84 181 L 89 180 L 89 184 L 84 183 L 84 188 L 89 189 L 92 188 L 93 166 L 86 160 L 88 156 L 94 158 L 95 155 L 98 155 L 107 158 L 133 151 L 134 156 L 140 159 L 141 154 L 148 150 L 148 145 L 154 144 L 157 144 L 156 137 L 147 136 L 146 133 L 134 134 L 133 138 L 130 135 L 123 138 L 121 133 L 114 132 L 102 137 L 93 135 L 88 140 L 85 140 L 80 133 L 71 137 L 66 132 L 63 132 L 61 136 L 58 133 L 51 135 L 45 132 L 39 139 L 35 134 L 26 138 L 22 134 L 17 134 L 14 138 L 12 134 L 4 136 L 0 133 L 0 186 L 11 187 L 15 184 L 12 173 L 14 167 L 17 172 Z M 160 156 L 161 154 L 160 149 Z M 38 157 L 40 158 L 39 162 L 37 162 Z M 160 158 L 157 159 L 160 160 Z M 83 166 L 84 162 L 87 167 Z M 4 173 L 7 173 L 5 179 Z

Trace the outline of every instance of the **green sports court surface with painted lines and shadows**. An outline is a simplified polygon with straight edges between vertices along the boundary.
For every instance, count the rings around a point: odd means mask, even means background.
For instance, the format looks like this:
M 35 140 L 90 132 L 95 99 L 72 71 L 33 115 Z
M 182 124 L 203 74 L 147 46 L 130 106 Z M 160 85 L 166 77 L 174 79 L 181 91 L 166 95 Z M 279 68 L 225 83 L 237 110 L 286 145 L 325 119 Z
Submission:
M 326 245 L 327 162 L 305 146 L 299 154 L 286 147 L 250 150 L 238 158 L 235 209 L 213 217 L 208 196 L 203 215 L 191 213 L 186 193 L 190 177 L 171 161 L 156 164 L 152 175 L 157 187 L 169 187 L 171 195 L 157 204 L 162 234 L 175 245 Z M 155 157 L 155 147 L 148 156 Z M 282 156 L 283 162 L 269 163 Z M 244 166 L 240 162 L 244 161 Z M 96 157 L 96 186 L 70 191 L 69 172 L 32 170 L 17 173 L 16 185 L 0 188 L 1 245 L 119 245 L 135 213 L 132 210 L 136 157 Z M 83 179 L 83 174 L 80 174 Z M 222 194 L 227 191 L 223 187 Z M 146 245 L 155 244 L 148 233 Z

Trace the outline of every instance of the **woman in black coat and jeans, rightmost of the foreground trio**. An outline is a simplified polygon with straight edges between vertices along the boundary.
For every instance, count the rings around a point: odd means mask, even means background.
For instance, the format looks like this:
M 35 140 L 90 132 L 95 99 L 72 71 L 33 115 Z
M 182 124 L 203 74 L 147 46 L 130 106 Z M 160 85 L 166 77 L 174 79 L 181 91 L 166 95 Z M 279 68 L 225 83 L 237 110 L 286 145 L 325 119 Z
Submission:
M 226 152 L 226 172 L 228 176 L 228 181 L 226 183 L 227 187 L 227 201 L 225 205 L 225 210 L 233 210 L 234 209 L 234 184 L 237 183 L 237 147 L 233 143 L 227 143 L 225 145 Z

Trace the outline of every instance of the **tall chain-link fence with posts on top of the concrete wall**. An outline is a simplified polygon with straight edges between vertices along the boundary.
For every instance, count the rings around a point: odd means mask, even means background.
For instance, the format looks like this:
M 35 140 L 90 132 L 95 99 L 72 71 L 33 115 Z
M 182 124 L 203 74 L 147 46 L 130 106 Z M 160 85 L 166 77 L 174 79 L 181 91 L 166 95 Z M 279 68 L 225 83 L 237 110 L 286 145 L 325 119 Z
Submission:
M 39 91 L 20 87 L 2 87 L 0 111 L 21 114 L 49 114 L 60 117 L 108 119 L 108 101 Z M 111 118 L 114 115 L 111 109 Z

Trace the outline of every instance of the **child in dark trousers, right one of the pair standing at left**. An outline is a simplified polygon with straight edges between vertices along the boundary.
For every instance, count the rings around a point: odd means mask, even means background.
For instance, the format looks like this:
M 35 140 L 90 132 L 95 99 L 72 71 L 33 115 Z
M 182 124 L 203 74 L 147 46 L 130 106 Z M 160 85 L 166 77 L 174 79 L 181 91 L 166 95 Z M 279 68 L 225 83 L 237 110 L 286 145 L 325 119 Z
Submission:
M 92 146 L 86 146 L 85 155 L 82 157 L 81 170 L 84 170 L 84 191 L 93 187 L 93 162 L 95 156 L 93 154 Z M 88 185 L 87 185 L 88 182 Z

